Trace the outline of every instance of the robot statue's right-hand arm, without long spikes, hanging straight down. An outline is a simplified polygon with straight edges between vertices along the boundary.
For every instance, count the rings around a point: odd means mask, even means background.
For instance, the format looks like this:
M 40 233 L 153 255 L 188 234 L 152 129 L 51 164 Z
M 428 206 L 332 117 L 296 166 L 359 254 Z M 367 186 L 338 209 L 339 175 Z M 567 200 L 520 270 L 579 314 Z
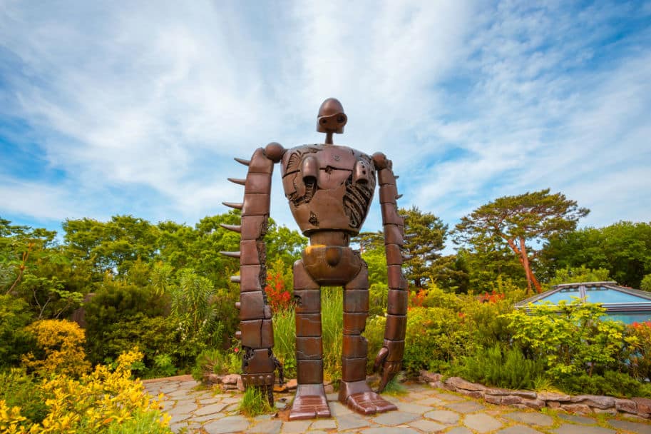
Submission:
M 404 355 L 404 338 L 407 325 L 407 281 L 402 274 L 404 244 L 404 219 L 398 215 L 396 199 L 400 198 L 391 161 L 384 153 L 375 153 L 373 162 L 380 184 L 380 206 L 384 226 L 384 248 L 389 277 L 389 302 L 386 309 L 384 345 L 375 359 L 375 369 L 381 369 L 379 392 L 399 372 Z

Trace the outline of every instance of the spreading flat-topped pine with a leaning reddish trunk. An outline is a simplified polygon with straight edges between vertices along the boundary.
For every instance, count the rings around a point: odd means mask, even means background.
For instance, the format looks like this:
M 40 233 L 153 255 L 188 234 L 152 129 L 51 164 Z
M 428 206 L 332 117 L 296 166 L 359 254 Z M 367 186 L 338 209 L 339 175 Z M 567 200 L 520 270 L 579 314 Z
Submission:
M 553 236 L 574 231 L 578 219 L 588 215 L 562 193 L 549 188 L 518 196 L 504 196 L 480 206 L 456 225 L 456 242 L 469 243 L 475 250 L 486 250 L 498 242 L 506 243 L 524 269 L 528 291 L 540 293 L 540 283 L 532 271 L 532 261 Z

